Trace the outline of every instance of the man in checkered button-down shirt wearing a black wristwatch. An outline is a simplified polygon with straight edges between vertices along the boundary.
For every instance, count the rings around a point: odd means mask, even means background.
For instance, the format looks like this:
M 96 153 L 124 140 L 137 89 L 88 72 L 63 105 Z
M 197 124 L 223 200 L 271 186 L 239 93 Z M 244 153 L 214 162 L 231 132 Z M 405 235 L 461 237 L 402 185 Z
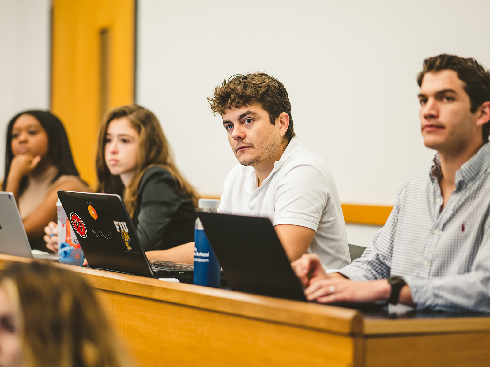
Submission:
M 361 258 L 335 270 L 310 253 L 292 263 L 309 300 L 490 311 L 490 73 L 439 55 L 417 82 L 424 144 L 438 153 L 401 188 Z

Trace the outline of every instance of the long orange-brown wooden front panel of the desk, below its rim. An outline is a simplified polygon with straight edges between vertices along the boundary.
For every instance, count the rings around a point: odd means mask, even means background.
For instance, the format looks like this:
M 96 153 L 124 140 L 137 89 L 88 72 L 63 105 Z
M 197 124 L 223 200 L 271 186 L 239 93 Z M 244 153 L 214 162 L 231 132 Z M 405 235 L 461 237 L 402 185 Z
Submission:
M 353 339 L 98 291 L 142 366 L 352 366 Z

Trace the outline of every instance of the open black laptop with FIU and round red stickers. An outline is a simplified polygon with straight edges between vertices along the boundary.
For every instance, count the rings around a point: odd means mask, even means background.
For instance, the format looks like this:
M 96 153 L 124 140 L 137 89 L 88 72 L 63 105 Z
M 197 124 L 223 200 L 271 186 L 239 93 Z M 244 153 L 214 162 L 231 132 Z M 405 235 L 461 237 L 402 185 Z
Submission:
M 148 261 L 119 195 L 58 191 L 89 268 L 192 283 L 194 265 Z

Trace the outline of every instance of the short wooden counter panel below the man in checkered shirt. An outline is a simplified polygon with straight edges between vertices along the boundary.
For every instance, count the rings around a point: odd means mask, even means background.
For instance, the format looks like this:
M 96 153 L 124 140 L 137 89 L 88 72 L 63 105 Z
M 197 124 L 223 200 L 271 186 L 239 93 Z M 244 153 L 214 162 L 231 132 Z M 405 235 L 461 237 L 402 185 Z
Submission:
M 366 367 L 490 366 L 490 332 L 365 339 Z

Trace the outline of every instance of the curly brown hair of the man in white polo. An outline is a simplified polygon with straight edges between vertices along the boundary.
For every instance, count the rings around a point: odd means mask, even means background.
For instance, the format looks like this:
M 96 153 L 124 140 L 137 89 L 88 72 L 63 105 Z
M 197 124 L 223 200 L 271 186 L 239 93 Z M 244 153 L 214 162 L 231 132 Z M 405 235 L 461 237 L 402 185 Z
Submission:
M 289 127 L 284 138 L 289 143 L 296 135 L 288 92 L 284 84 L 265 72 L 232 75 L 228 81 L 225 79 L 217 86 L 213 96 L 207 99 L 214 115 L 223 115 L 226 109 L 232 107 L 242 108 L 252 103 L 260 104 L 269 114 L 272 125 L 275 125 L 275 120 L 285 112 L 289 115 Z

